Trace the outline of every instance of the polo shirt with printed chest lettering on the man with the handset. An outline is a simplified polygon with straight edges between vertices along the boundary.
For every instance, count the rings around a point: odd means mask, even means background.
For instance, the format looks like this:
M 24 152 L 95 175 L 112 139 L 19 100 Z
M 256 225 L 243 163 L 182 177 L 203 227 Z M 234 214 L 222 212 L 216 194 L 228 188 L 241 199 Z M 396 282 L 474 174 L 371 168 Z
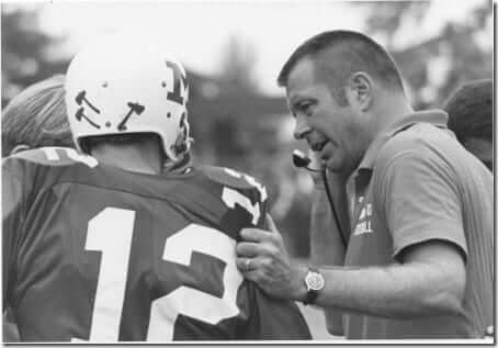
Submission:
M 350 339 L 480 337 L 493 319 L 493 177 L 446 128 L 448 114 L 416 112 L 369 147 L 353 180 L 346 266 L 399 262 L 418 243 L 453 244 L 466 261 L 459 316 L 388 319 L 346 314 Z

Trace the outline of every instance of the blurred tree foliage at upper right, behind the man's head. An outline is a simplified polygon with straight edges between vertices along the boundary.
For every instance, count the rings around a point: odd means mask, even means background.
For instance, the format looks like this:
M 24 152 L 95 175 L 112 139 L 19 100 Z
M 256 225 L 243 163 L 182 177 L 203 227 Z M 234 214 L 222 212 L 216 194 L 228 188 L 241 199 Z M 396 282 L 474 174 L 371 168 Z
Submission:
M 440 106 L 465 81 L 493 77 L 493 2 L 483 0 L 462 21 L 449 21 L 434 36 L 397 48 L 399 34 L 417 35 L 435 1 L 358 2 L 366 32 L 383 37 L 409 85 L 417 109 Z M 448 5 L 457 2 L 448 1 Z M 486 36 L 488 35 L 488 36 Z M 483 41 L 488 41 L 483 43 Z

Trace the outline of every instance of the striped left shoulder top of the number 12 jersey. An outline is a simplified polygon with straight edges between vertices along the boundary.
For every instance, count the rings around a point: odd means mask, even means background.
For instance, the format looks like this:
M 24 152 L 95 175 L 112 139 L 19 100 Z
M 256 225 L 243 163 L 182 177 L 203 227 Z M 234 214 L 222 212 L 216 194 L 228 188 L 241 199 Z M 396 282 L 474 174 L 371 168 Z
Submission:
M 94 157 L 79 154 L 70 147 L 41 147 L 18 153 L 9 158 L 19 158 L 29 162 L 50 167 L 63 167 L 82 162 L 93 168 L 99 164 Z

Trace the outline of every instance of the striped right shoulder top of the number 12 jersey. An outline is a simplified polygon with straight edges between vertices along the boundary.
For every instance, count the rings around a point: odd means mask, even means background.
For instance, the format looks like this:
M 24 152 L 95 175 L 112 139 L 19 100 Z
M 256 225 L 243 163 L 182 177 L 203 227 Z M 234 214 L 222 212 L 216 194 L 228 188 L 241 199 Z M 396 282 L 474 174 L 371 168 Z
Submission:
M 268 198 L 267 188 L 256 181 L 251 176 L 224 167 L 203 166 L 200 170 L 211 180 L 236 189 L 257 189 L 260 192 L 261 202 Z

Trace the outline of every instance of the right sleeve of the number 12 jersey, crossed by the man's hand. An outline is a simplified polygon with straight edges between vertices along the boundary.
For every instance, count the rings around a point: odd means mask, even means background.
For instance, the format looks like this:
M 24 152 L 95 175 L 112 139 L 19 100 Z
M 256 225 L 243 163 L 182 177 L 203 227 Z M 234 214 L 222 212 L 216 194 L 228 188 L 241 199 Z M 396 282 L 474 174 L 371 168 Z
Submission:
M 223 186 L 222 200 L 229 207 L 222 226 L 233 231 L 241 240 L 245 227 L 268 228 L 268 193 L 263 184 L 247 173 L 229 168 L 211 167 L 204 171 Z M 245 280 L 238 293 L 241 311 L 237 339 L 247 340 L 305 340 L 310 339 L 309 328 L 293 301 L 268 296 L 254 282 Z

